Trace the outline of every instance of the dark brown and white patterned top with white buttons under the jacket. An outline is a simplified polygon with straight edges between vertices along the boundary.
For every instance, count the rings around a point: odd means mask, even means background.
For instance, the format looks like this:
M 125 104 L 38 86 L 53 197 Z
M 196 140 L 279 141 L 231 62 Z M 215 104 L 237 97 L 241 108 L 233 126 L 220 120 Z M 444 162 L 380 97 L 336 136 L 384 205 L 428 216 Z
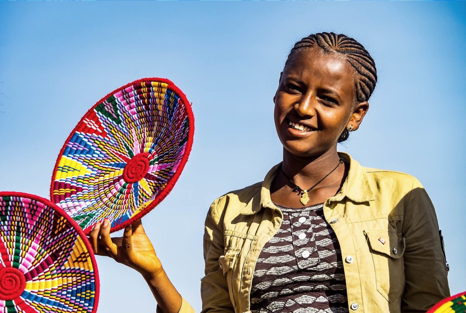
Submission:
M 349 312 L 340 245 L 323 204 L 275 205 L 283 221 L 257 259 L 251 312 Z

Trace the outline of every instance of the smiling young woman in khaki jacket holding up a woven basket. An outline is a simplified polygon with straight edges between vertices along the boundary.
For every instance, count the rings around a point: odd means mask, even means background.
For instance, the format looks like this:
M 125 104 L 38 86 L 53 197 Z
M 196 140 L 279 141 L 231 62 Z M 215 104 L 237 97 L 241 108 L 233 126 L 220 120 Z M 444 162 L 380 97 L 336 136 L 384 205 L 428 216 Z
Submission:
M 202 312 L 425 312 L 449 296 L 422 184 L 337 151 L 376 82 L 374 60 L 353 38 L 319 33 L 295 44 L 274 95 L 283 161 L 207 213 Z M 110 238 L 104 221 L 90 240 L 96 254 L 144 276 L 159 312 L 194 312 L 141 222 Z

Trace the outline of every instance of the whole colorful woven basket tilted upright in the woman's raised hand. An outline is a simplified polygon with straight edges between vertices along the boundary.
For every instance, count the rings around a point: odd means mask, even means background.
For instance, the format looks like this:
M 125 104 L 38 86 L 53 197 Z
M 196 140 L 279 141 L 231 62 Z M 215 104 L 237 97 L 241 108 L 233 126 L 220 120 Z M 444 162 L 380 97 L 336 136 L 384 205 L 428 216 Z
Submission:
M 192 147 L 194 117 L 169 80 L 144 78 L 99 100 L 71 132 L 52 176 L 51 199 L 89 234 L 133 223 L 171 191 Z

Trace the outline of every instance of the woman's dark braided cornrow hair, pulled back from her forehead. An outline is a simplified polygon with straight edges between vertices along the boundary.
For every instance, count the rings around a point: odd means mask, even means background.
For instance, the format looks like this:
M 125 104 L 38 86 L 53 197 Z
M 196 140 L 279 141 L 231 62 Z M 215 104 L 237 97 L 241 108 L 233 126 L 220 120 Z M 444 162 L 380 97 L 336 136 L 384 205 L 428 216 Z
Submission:
M 295 43 L 295 46 L 288 54 L 285 67 L 291 56 L 295 54 L 298 49 L 314 47 L 319 47 L 329 53 L 335 52 L 343 54 L 346 57 L 346 61 L 348 61 L 357 72 L 355 79 L 356 101 L 363 102 L 369 100 L 370 95 L 372 95 L 376 87 L 377 70 L 374 59 L 372 59 L 369 52 L 362 44 L 344 34 L 335 34 L 333 32 L 310 34 Z M 342 135 L 338 138 L 338 142 L 345 141 L 348 139 L 348 136 L 349 131 L 345 128 Z

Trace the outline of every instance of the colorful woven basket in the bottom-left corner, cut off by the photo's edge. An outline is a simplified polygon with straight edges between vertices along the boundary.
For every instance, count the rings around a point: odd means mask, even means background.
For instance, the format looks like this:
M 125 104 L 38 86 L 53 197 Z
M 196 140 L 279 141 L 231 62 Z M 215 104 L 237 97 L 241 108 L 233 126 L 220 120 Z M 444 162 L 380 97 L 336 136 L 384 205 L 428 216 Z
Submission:
M 0 192 L 0 312 L 96 312 L 96 260 L 49 200 Z

